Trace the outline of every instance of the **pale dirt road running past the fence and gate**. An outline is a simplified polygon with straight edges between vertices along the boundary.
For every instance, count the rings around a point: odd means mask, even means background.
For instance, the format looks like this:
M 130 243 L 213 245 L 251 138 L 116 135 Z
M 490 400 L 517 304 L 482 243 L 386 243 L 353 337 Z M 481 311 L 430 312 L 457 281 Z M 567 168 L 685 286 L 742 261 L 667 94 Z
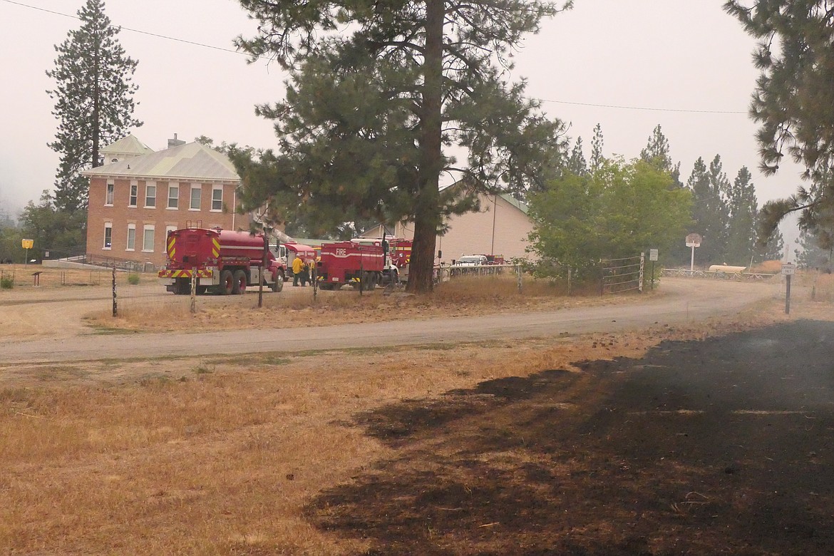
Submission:
M 58 338 L 31 341 L 3 338 L 0 340 L 0 363 L 297 352 L 616 332 L 738 313 L 752 303 L 774 297 L 778 285 L 666 278 L 663 292 L 664 295 L 635 297 L 627 303 L 594 308 L 314 328 L 103 335 L 74 333 L 78 327 L 73 325 L 67 328 L 73 330 L 72 335 Z M 48 303 L 42 303 L 42 306 L 48 311 Z

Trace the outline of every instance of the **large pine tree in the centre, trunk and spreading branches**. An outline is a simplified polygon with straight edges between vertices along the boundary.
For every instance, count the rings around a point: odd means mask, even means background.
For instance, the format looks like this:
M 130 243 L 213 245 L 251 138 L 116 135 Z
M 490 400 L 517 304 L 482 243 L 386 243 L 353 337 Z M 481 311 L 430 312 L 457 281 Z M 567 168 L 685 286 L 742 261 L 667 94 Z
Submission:
M 239 48 L 290 73 L 285 100 L 257 108 L 274 120 L 279 154 L 235 159 L 244 209 L 268 203 L 284 221 L 314 213 L 328 228 L 414 222 L 411 291 L 432 288 L 445 216 L 475 208 L 477 192 L 542 188 L 564 162 L 564 125 L 505 78 L 514 48 L 559 12 L 555 3 L 241 5 L 259 33 Z M 465 185 L 441 191 L 441 175 Z

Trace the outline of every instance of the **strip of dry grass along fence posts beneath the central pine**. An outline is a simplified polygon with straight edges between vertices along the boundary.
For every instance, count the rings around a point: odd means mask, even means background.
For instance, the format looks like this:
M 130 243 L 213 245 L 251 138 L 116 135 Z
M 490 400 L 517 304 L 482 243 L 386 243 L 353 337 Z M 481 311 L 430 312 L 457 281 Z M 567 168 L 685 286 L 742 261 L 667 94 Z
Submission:
M 594 288 L 595 290 L 595 288 Z M 129 292 L 128 288 L 128 292 Z M 364 323 L 404 318 L 430 318 L 441 315 L 472 316 L 502 311 L 540 311 L 561 307 L 620 303 L 622 298 L 565 296 L 565 287 L 548 280 L 524 277 L 519 292 L 512 274 L 495 277 L 461 277 L 435 288 L 428 296 L 401 292 L 386 295 L 382 288 L 358 292 L 344 288 L 339 292 L 285 286 L 282 293 L 264 293 L 258 308 L 257 293 L 243 296 L 198 296 L 196 313 L 190 313 L 190 298 L 168 294 L 156 303 L 131 303 L 113 318 L 109 309 L 88 317 L 88 323 L 101 328 L 162 332 L 168 330 L 220 330 L 274 327 L 321 326 Z

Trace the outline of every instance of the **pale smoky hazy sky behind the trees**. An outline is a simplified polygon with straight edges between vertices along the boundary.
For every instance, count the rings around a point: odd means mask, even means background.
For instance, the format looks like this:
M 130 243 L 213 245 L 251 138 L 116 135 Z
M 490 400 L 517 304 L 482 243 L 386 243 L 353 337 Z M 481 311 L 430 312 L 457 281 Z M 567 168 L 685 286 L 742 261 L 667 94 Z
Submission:
M 62 43 L 84 0 L 0 0 L 0 203 L 10 213 L 52 188 L 58 155 L 57 121 L 46 90 L 54 83 L 54 45 Z M 721 9 L 722 0 L 575 0 L 575 8 L 543 23 L 515 56 L 514 78 L 526 78 L 530 97 L 551 118 L 570 123 L 585 156 L 596 123 L 604 154 L 639 157 L 660 124 L 686 181 L 696 158 L 720 154 L 731 180 L 751 170 L 760 204 L 785 197 L 800 183 L 800 168 L 784 164 L 775 177 L 758 171 L 756 126 L 747 116 L 758 72 L 754 40 Z M 232 40 L 255 24 L 233 0 L 106 0 L 122 26 L 118 38 L 137 59 L 133 133 L 150 148 L 174 133 L 219 143 L 274 147 L 269 121 L 254 105 L 284 93 L 276 63 L 246 63 Z M 173 40 L 177 39 L 177 40 Z

